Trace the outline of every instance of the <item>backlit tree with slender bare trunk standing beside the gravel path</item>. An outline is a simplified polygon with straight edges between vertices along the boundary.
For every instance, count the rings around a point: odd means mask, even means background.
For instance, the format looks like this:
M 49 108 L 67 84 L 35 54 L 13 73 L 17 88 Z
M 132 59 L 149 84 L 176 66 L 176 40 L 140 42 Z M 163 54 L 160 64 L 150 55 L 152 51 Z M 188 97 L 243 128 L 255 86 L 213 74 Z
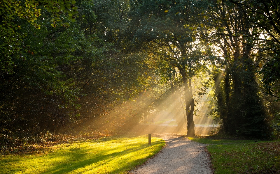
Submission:
M 207 6 L 202 1 L 133 1 L 132 21 L 135 41 L 145 42 L 150 53 L 162 59 L 162 70 L 169 79 L 176 72 L 182 77 L 187 115 L 187 136 L 194 136 L 194 97 L 191 78 L 206 57 L 203 45 L 195 42 L 197 27 L 189 26 Z M 206 52 L 205 52 L 206 53 Z

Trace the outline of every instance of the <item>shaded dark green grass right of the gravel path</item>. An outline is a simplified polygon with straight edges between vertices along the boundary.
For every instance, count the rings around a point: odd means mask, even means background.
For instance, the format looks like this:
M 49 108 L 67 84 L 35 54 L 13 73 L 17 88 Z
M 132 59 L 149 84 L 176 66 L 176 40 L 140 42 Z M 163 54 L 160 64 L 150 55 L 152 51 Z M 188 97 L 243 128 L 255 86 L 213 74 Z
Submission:
M 280 173 L 280 142 L 219 139 L 196 136 L 189 139 L 206 146 L 215 174 Z M 231 144 L 223 144 L 231 143 Z

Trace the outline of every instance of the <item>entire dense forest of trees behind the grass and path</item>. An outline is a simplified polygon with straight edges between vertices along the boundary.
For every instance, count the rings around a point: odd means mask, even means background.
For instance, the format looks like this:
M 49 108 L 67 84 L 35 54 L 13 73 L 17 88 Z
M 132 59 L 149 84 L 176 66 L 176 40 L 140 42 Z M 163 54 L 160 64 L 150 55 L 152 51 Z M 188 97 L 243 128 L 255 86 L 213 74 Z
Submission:
M 197 99 L 209 96 L 220 132 L 279 138 L 279 6 L 1 0 L 1 144 L 89 123 L 127 129 L 171 103 L 162 100 L 170 95 L 185 109 L 188 136 Z

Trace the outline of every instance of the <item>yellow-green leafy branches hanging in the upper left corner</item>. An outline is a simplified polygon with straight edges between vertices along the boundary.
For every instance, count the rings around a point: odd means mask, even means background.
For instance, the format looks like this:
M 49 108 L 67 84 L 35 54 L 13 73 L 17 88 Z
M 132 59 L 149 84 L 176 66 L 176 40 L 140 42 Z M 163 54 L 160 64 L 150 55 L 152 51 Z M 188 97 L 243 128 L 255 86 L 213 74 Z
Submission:
M 13 74 L 17 64 L 17 59 L 25 59 L 22 55 L 22 47 L 24 44 L 23 38 L 27 33 L 22 33 L 20 30 L 20 20 L 26 20 L 30 25 L 40 29 L 41 25 L 36 23 L 37 17 L 41 16 L 40 6 L 48 11 L 53 12 L 50 21 L 53 27 L 57 26 L 56 22 L 62 22 L 61 13 L 68 13 L 69 19 L 75 20 L 77 7 L 74 6 L 76 1 L 14 1 L 4 0 L 0 3 L 0 48 L 1 48 L 1 72 Z M 69 23 L 61 23 L 61 26 L 69 26 Z M 32 53 L 29 49 L 24 49 L 25 52 Z

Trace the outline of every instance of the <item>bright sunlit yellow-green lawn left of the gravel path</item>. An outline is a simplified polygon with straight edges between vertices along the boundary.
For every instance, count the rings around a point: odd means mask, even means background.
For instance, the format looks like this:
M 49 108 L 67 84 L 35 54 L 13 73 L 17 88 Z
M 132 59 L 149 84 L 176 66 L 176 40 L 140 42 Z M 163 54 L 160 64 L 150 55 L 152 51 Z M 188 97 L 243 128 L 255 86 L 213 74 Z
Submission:
M 47 154 L 4 155 L 0 173 L 119 173 L 124 174 L 159 152 L 164 140 L 148 137 L 76 142 Z

